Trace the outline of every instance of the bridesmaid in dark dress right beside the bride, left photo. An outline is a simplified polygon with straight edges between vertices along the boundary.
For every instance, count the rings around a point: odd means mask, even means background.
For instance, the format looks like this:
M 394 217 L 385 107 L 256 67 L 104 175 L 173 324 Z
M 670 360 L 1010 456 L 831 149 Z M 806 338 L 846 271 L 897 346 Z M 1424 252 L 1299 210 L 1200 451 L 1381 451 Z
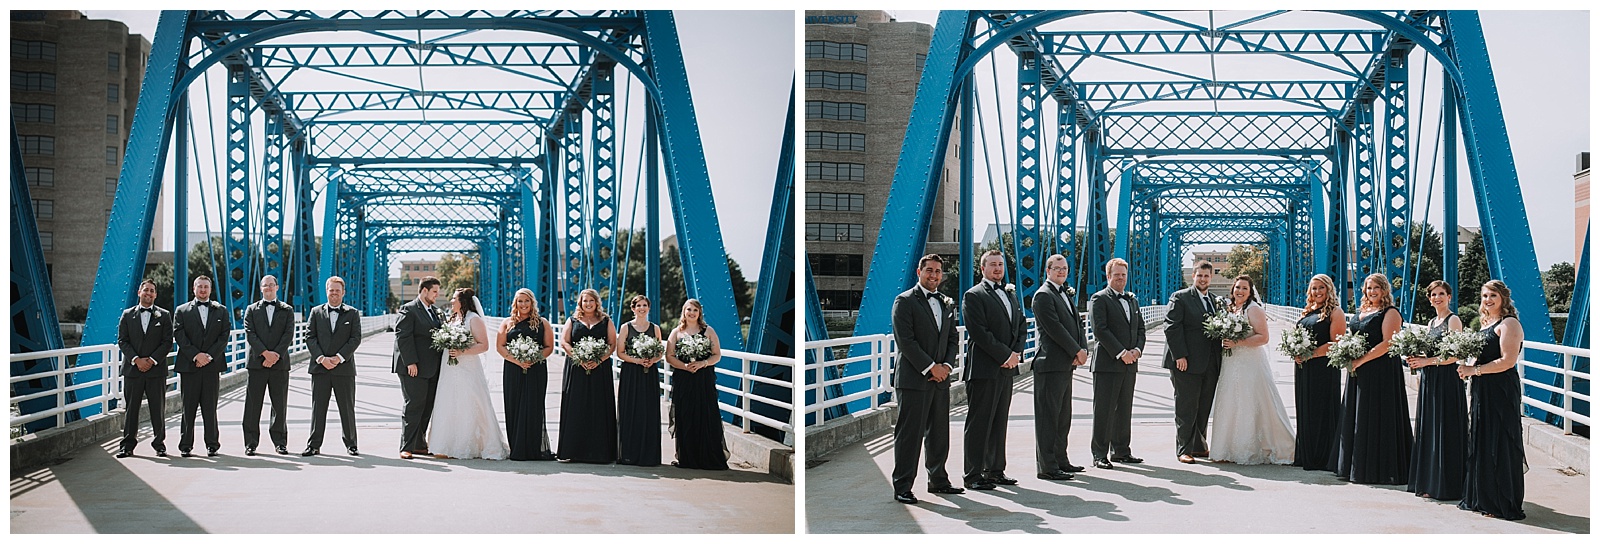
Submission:
M 552 461 L 550 435 L 544 430 L 544 390 L 550 379 L 549 365 L 512 360 L 506 342 L 533 338 L 544 347 L 544 360 L 555 350 L 555 331 L 539 315 L 533 291 L 522 288 L 512 296 L 510 317 L 501 322 L 494 350 L 506 360 L 501 386 L 506 390 L 506 438 L 512 461 Z

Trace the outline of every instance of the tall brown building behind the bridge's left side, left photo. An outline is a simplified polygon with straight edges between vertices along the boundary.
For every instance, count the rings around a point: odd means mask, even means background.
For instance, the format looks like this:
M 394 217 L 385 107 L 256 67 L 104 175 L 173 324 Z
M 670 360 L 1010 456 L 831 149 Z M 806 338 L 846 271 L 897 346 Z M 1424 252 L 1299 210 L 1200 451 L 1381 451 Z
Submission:
M 62 317 L 88 307 L 94 290 L 149 56 L 150 42 L 118 21 L 11 11 L 11 122 Z M 157 208 L 152 251 L 162 250 L 163 218 Z

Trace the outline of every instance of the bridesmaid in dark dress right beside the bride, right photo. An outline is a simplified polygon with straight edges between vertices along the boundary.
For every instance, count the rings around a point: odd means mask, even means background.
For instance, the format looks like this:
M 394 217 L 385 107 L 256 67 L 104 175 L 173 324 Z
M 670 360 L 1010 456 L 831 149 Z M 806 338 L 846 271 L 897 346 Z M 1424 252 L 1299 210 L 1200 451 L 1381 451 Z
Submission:
M 1328 347 L 1344 334 L 1344 323 L 1333 278 L 1317 274 L 1306 286 L 1299 320 L 1317 350 L 1294 362 L 1294 466 L 1306 470 L 1339 467 L 1339 370 L 1328 366 Z

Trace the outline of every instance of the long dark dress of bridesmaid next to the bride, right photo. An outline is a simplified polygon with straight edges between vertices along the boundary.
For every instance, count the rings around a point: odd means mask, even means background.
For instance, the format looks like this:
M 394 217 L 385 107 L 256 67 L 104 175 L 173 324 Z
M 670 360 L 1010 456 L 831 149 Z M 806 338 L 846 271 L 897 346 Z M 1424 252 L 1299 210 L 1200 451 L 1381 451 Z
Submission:
M 1302 317 L 1299 326 L 1310 330 L 1317 346 L 1333 341 L 1333 322 L 1320 312 Z M 1294 466 L 1306 470 L 1339 467 L 1339 374 L 1326 355 L 1294 365 Z

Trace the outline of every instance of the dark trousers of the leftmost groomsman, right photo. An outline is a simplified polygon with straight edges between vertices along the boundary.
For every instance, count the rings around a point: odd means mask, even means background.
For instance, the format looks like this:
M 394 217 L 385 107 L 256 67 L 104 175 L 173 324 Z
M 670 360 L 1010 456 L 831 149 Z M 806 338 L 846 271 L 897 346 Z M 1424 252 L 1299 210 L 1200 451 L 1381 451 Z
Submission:
M 950 389 L 894 389 L 899 414 L 894 419 L 894 493 L 917 483 L 917 458 L 926 445 L 928 488 L 950 485 L 944 461 L 950 456 Z

